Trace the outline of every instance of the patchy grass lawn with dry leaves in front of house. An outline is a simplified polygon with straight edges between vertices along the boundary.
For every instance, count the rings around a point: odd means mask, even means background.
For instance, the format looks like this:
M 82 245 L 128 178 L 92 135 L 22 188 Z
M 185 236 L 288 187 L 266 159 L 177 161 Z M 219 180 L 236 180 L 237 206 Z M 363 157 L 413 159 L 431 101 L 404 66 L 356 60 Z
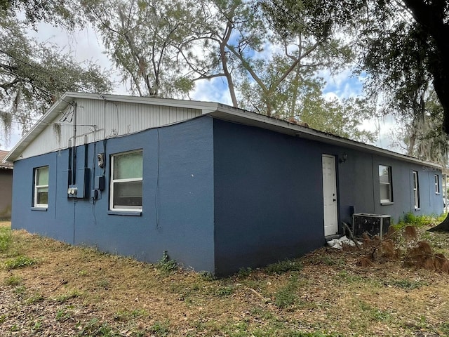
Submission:
M 394 258 L 323 247 L 214 279 L 0 222 L 0 336 L 449 336 L 449 275 L 403 263 L 420 240 L 449 257 L 435 223 L 401 230 Z

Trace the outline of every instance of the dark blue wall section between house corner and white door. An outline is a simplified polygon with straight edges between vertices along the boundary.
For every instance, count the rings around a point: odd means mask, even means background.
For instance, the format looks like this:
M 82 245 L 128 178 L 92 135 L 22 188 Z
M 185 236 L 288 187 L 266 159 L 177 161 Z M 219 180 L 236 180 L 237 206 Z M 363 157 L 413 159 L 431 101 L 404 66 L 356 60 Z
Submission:
M 217 275 L 323 246 L 319 144 L 215 120 Z

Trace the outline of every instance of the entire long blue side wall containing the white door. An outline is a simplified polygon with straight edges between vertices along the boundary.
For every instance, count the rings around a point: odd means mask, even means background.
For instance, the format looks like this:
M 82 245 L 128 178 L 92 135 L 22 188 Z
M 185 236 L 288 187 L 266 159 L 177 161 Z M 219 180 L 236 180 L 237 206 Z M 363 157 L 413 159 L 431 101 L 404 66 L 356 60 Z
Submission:
M 347 161 L 338 158 L 346 153 Z M 325 244 L 322 154 L 336 158 L 339 223 L 356 213 L 440 214 L 436 171 L 345 147 L 261 128 L 214 122 L 215 273 L 257 267 L 300 256 Z M 379 164 L 391 166 L 394 203 L 380 204 Z M 413 206 L 413 171 L 421 209 Z

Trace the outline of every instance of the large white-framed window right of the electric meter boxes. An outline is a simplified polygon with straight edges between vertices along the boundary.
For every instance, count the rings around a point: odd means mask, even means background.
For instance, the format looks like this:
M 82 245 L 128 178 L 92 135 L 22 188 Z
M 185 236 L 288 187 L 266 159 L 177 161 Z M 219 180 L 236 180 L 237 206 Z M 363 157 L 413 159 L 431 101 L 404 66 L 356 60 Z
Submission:
M 109 209 L 142 209 L 142 150 L 112 154 Z

